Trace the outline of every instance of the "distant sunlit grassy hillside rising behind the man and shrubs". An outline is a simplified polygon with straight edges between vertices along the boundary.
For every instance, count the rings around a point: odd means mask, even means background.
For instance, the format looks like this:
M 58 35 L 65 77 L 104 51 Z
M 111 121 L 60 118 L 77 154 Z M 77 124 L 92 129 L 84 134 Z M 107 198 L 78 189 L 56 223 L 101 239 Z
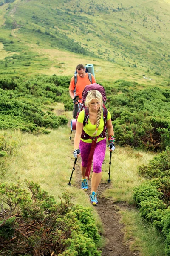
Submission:
M 1 0 L 0 73 L 71 75 L 83 62 L 99 79 L 167 85 L 169 13 L 161 0 Z

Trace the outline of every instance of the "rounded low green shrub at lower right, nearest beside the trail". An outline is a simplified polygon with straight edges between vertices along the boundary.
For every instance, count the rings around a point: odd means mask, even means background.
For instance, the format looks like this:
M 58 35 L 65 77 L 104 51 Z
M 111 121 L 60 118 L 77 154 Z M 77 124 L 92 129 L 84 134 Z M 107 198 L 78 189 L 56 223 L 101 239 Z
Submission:
M 165 255 L 170 255 L 170 178 L 147 180 L 134 188 L 133 198 L 141 216 L 165 237 Z

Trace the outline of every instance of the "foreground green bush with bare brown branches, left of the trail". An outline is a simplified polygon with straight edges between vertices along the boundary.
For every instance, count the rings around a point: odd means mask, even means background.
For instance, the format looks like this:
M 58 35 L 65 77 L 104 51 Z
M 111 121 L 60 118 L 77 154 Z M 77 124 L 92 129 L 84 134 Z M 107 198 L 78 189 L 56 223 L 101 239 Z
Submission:
M 91 208 L 57 203 L 37 183 L 0 183 L 0 255 L 100 256 Z

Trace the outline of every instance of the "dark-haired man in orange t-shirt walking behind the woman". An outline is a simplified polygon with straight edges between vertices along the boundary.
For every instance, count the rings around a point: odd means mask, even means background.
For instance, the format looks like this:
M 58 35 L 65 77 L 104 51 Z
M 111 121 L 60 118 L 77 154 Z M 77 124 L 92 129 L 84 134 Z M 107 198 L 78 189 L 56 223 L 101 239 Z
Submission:
M 86 68 L 84 65 L 79 64 L 76 67 L 77 71 L 77 82 L 75 83 L 75 75 L 71 78 L 70 86 L 69 86 L 69 93 L 71 96 L 71 99 L 74 99 L 75 96 L 79 96 L 77 100 L 74 100 L 74 109 L 73 109 L 73 118 L 76 118 L 77 116 L 77 110 L 78 110 L 78 103 L 82 100 L 82 92 L 86 85 L 94 84 L 96 83 L 96 80 L 94 76 L 91 74 L 91 80 L 89 79 L 89 74 L 85 72 Z

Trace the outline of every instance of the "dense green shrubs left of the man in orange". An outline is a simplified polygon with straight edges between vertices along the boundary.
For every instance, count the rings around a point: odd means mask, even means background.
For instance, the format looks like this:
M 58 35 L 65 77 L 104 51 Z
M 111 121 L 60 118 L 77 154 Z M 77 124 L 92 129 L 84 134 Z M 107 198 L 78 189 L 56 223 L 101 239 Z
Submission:
M 34 134 L 48 133 L 65 125 L 65 116 L 56 116 L 48 104 L 60 100 L 67 79 L 36 77 L 25 81 L 19 77 L 0 79 L 0 128 L 19 128 Z M 67 98 L 67 97 L 66 97 Z

